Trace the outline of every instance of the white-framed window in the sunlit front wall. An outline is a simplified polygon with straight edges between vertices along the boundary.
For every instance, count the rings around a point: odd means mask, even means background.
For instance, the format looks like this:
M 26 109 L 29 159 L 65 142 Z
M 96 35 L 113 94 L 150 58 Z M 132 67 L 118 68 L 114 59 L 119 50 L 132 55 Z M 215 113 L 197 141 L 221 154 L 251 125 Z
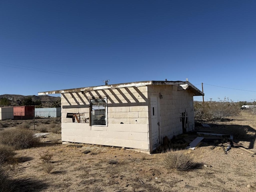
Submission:
M 107 107 L 105 99 L 92 99 L 90 104 L 90 123 L 91 125 L 107 125 Z

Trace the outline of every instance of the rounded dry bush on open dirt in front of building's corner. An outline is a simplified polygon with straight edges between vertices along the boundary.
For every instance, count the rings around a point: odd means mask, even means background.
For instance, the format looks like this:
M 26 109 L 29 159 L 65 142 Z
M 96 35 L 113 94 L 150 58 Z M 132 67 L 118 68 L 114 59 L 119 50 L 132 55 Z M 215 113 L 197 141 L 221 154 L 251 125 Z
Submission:
M 191 170 L 200 166 L 182 150 L 168 150 L 162 164 L 168 169 L 176 169 L 178 171 Z

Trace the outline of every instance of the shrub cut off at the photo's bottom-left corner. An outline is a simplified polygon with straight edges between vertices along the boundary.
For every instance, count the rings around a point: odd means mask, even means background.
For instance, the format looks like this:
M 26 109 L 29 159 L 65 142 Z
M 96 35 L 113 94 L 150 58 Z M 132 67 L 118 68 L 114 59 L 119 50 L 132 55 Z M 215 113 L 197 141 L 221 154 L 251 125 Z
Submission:
M 0 191 L 10 192 L 13 188 L 13 182 L 10 180 L 10 171 L 5 164 L 0 164 Z

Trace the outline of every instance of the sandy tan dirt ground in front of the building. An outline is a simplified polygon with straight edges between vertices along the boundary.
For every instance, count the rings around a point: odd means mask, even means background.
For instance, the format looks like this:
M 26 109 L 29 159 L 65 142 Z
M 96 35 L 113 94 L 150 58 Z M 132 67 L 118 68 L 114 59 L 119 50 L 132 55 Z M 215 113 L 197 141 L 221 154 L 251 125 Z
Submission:
M 214 122 L 221 129 L 225 125 L 248 126 L 256 132 L 256 115 L 242 111 L 231 122 Z M 39 122 L 38 122 L 39 124 Z M 37 125 L 48 126 L 48 124 Z M 213 126 L 213 125 L 212 125 Z M 215 129 L 209 127 L 207 129 Z M 206 128 L 204 128 L 206 129 Z M 220 130 L 219 130 L 220 131 Z M 200 146 L 184 150 L 201 168 L 178 172 L 162 165 L 166 153 L 148 155 L 123 148 L 82 144 L 82 147 L 56 144 L 49 141 L 60 137 L 50 134 L 35 148 L 17 150 L 14 191 L 37 192 L 251 192 L 256 191 L 256 155 L 239 148 L 224 154 L 222 147 Z M 234 138 L 236 140 L 236 138 Z M 236 140 L 256 152 L 255 136 L 250 140 Z M 87 154 L 83 153 L 90 151 Z M 44 171 L 40 157 L 53 154 L 54 169 Z

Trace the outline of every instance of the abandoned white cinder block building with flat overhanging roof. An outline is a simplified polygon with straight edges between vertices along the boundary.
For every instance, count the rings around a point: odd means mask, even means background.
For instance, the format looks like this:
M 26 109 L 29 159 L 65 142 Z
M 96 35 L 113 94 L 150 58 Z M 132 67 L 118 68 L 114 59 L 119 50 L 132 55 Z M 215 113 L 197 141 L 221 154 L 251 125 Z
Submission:
M 62 141 L 152 153 L 163 138 L 194 129 L 190 82 L 144 81 L 40 92 L 61 94 Z

